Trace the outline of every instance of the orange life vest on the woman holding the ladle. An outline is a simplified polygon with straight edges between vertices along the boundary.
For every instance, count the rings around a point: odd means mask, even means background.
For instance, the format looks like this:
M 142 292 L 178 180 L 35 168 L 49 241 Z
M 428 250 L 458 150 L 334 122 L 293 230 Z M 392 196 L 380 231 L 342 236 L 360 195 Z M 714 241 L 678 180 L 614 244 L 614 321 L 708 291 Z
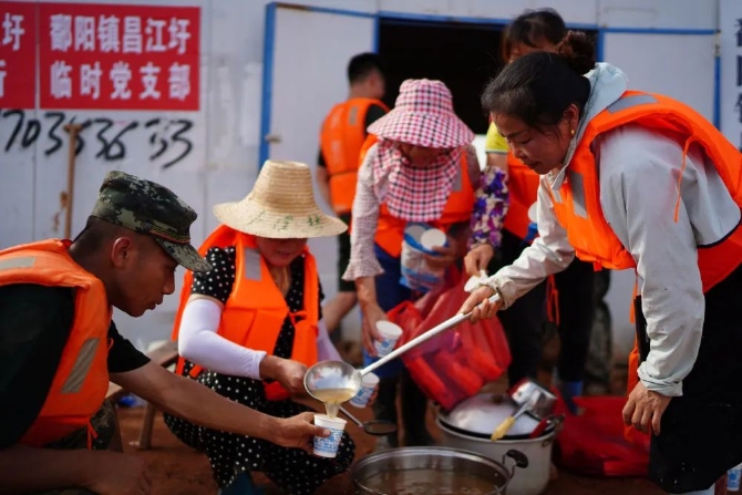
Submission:
M 742 206 L 742 155 L 713 125 L 698 112 L 676 100 L 657 94 L 627 91 L 608 109 L 589 122 L 573 156 L 567 179 L 558 194 L 550 192 L 557 219 L 567 230 L 578 258 L 608 269 L 636 269 L 630 252 L 606 221 L 600 207 L 598 166 L 591 145 L 601 133 L 626 124 L 672 132 L 684 141 L 683 159 L 678 176 L 682 177 L 688 149 L 698 143 L 717 168 L 734 202 Z M 679 178 L 679 181 L 680 181 Z M 680 205 L 680 183 L 674 219 Z M 742 228 L 735 228 L 712 246 L 698 247 L 698 267 L 703 292 L 726 278 L 742 262 Z M 639 350 L 635 341 L 629 357 L 628 391 L 639 382 Z M 633 435 L 633 433 L 631 433 Z M 627 436 L 629 433 L 627 431 Z

